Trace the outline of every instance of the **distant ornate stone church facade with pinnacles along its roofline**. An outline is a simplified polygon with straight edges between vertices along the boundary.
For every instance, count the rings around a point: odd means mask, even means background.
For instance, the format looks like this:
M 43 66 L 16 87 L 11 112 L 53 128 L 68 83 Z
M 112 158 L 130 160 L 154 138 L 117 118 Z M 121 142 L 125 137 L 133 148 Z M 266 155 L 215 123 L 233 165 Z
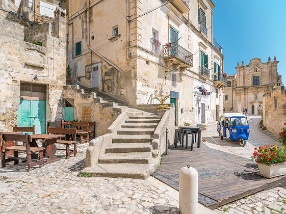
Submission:
M 248 109 L 248 114 L 263 113 L 263 95 L 282 84 L 281 75 L 277 71 L 278 63 L 276 57 L 274 61 L 271 61 L 269 57 L 266 63 L 254 58 L 250 60 L 249 65 L 244 65 L 244 62 L 241 66 L 237 64 L 236 77 L 231 83 L 234 84 L 233 90 L 224 91 L 224 96 L 227 97 L 232 96 L 233 93 L 232 108 L 236 108 L 236 112 L 241 113 L 243 109 Z

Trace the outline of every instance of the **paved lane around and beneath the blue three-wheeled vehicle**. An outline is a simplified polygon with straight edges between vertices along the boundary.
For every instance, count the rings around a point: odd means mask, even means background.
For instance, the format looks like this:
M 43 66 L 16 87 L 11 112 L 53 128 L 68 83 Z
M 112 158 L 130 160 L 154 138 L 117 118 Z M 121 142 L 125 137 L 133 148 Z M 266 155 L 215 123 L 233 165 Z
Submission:
M 244 147 L 240 146 L 237 141 L 232 141 L 224 138 L 221 140 L 218 137 L 217 124 L 210 124 L 206 126 L 206 131 L 202 132 L 202 138 L 212 137 L 216 144 L 205 142 L 206 146 L 217 149 L 220 151 L 228 152 L 231 154 L 239 155 L 246 158 L 251 158 L 254 147 L 265 146 L 265 145 L 281 145 L 278 141 L 275 141 L 271 137 L 267 136 L 267 132 L 261 132 L 258 129 L 257 124 L 261 119 L 261 116 L 250 115 L 247 116 L 250 123 L 250 133 L 249 138 L 246 141 Z

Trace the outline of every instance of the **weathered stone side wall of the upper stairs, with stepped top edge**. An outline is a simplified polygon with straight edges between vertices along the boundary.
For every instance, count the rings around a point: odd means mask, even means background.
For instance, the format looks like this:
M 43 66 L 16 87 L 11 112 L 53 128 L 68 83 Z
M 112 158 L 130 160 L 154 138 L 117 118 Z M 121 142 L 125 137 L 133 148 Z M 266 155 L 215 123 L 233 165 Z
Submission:
M 63 98 L 73 103 L 74 120 L 86 121 L 83 117 L 83 108 L 90 109 L 90 120 L 95 121 L 96 133 L 95 137 L 105 135 L 108 127 L 121 114 L 121 109 L 115 108 L 115 103 L 102 103 L 102 98 L 96 98 L 95 93 L 84 93 L 79 85 L 65 86 L 63 90 Z

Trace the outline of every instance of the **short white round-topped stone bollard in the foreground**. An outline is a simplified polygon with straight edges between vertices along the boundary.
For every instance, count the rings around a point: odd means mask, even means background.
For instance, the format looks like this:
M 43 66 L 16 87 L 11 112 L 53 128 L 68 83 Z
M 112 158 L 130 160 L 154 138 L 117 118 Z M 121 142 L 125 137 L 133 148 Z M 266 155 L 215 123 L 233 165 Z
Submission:
M 181 214 L 198 213 L 198 172 L 190 165 L 179 171 L 179 209 Z

